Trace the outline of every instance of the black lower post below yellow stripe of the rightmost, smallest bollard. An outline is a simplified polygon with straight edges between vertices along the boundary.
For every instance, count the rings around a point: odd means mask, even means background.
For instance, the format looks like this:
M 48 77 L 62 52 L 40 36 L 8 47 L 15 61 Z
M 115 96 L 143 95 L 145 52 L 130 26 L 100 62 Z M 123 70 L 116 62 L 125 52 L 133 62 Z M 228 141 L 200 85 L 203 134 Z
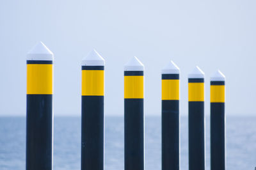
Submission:
M 225 170 L 225 103 L 211 103 L 211 170 Z

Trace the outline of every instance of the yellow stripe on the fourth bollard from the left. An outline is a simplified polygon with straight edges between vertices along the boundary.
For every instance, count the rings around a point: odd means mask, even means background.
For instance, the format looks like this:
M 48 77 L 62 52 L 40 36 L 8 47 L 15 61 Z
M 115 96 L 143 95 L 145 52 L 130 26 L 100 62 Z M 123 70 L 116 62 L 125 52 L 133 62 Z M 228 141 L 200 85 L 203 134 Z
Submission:
M 162 80 L 162 100 L 179 100 L 179 80 Z

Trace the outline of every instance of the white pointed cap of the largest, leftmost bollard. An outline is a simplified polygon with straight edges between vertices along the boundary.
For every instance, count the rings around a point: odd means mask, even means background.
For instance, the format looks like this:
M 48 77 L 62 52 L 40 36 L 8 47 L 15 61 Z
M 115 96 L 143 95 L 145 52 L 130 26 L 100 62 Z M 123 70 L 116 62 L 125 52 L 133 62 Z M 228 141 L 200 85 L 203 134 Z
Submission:
M 52 61 L 53 53 L 44 45 L 44 43 L 38 42 L 31 50 L 29 50 L 27 60 Z

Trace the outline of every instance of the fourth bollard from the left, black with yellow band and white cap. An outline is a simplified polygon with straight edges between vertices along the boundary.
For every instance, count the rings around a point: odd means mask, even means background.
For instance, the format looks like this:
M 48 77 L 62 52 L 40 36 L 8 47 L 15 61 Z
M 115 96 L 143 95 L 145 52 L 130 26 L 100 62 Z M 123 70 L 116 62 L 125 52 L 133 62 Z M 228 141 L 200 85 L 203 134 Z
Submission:
M 170 61 L 162 70 L 162 169 L 180 169 L 180 70 Z

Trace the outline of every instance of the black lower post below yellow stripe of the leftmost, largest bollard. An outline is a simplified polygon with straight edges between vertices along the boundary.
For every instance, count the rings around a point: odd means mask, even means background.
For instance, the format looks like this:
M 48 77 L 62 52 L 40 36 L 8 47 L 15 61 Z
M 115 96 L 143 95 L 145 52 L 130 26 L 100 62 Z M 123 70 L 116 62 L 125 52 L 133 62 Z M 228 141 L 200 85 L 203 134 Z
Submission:
M 26 170 L 52 169 L 52 95 L 27 95 Z

